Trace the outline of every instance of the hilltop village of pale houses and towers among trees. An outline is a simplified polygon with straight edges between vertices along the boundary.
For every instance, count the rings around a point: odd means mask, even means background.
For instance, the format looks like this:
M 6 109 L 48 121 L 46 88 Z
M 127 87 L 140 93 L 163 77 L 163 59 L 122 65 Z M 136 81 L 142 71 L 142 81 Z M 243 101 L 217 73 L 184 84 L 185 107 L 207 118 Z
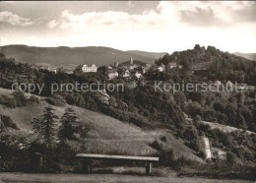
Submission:
M 177 56 L 179 53 L 177 54 Z M 177 60 L 177 56 L 175 56 L 174 60 Z M 159 60 L 156 59 L 155 64 L 149 64 L 142 61 L 133 60 L 132 57 L 130 57 L 129 61 L 122 62 L 119 64 L 119 62 L 114 62 L 112 65 L 108 66 L 101 66 L 101 69 L 104 68 L 104 75 L 107 80 L 111 81 L 117 78 L 124 79 L 125 81 L 142 81 L 145 80 L 145 75 L 148 73 L 181 73 L 186 76 L 192 76 L 195 73 L 201 73 L 204 71 L 207 71 L 210 68 L 210 64 L 212 62 L 203 62 L 192 65 L 190 68 L 186 66 L 186 63 L 180 63 L 177 62 L 168 62 L 167 64 L 163 64 L 160 62 L 161 58 Z M 184 67 L 183 67 L 184 66 Z M 35 68 L 36 70 L 46 70 L 49 72 L 52 72 L 54 74 L 57 73 L 66 73 L 66 74 L 74 74 L 74 72 L 79 72 L 80 74 L 90 74 L 90 73 L 97 73 L 98 68 L 96 64 L 82 64 L 77 66 L 75 70 L 70 69 L 64 69 L 64 68 L 52 68 L 47 66 L 35 66 L 32 65 L 32 68 Z M 213 84 L 215 89 L 218 90 L 224 90 L 224 86 L 226 89 L 236 89 L 237 91 L 243 91 L 243 90 L 251 90 L 253 91 L 255 87 L 248 86 L 248 85 L 242 85 L 242 84 L 234 84 L 231 81 L 227 80 L 224 82 L 221 82 L 220 80 L 215 80 L 213 82 L 210 82 Z M 105 92 L 105 91 L 104 91 Z

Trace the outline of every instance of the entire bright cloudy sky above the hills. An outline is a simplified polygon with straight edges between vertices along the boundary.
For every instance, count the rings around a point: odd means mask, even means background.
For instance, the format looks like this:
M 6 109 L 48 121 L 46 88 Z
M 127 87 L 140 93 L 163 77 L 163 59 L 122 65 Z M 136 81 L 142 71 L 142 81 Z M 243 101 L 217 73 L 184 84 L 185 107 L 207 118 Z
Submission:
M 0 2 L 0 45 L 256 53 L 253 1 Z

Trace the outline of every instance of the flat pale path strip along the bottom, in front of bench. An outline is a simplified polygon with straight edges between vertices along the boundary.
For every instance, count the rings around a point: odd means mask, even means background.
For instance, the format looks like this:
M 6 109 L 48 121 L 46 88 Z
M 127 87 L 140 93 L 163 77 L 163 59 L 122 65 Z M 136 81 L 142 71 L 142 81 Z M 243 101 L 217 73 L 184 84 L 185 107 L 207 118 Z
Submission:
M 0 173 L 0 183 L 64 183 L 64 182 L 156 182 L 156 183 L 245 183 L 241 180 L 216 180 L 197 177 L 156 177 L 120 174 L 32 174 Z

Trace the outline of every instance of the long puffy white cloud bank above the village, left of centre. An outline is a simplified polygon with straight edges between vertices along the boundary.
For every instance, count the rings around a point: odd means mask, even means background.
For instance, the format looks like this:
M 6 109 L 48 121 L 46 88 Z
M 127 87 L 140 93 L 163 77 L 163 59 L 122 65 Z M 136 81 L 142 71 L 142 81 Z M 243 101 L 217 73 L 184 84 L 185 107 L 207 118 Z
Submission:
M 125 12 L 86 12 L 76 15 L 69 10 L 61 14 L 59 27 L 62 30 L 76 32 L 95 32 L 103 30 L 145 30 L 157 29 L 162 24 L 159 14 L 154 11 L 142 15 L 130 15 Z

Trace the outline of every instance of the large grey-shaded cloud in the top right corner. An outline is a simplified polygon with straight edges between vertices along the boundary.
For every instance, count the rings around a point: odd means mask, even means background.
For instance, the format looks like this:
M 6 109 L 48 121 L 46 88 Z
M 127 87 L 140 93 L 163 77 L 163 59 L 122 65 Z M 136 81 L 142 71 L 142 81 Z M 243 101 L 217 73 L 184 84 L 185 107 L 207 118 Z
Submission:
M 160 2 L 161 12 L 172 12 L 178 22 L 193 27 L 228 27 L 256 22 L 256 2 L 249 1 L 190 1 Z

